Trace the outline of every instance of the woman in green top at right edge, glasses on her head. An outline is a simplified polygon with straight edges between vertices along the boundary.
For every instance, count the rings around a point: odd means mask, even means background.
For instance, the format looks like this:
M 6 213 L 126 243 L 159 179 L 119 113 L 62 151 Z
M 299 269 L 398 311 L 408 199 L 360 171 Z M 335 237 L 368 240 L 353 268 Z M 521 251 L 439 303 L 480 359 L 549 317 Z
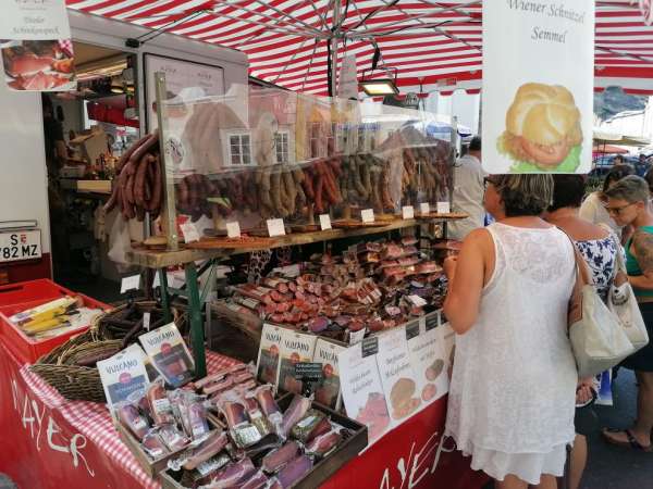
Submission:
M 631 175 L 615 184 L 605 196 L 605 209 L 615 222 L 634 228 L 632 238 L 626 242 L 626 271 L 649 338 L 653 339 L 653 213 L 649 185 L 643 178 Z M 634 371 L 637 377 L 637 418 L 630 428 L 607 429 L 603 437 L 613 444 L 650 452 L 653 447 L 653 343 L 621 362 L 621 367 Z

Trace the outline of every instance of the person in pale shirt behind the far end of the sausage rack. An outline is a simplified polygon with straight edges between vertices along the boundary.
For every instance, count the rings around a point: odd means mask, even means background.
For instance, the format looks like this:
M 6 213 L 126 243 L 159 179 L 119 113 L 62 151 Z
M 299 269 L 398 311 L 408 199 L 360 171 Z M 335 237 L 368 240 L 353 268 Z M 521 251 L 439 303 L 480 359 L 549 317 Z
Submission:
M 467 153 L 454 166 L 453 210 L 469 217 L 448 224 L 447 237 L 461 241 L 472 230 L 483 227 L 483 170 L 481 167 L 481 138 L 475 136 Z

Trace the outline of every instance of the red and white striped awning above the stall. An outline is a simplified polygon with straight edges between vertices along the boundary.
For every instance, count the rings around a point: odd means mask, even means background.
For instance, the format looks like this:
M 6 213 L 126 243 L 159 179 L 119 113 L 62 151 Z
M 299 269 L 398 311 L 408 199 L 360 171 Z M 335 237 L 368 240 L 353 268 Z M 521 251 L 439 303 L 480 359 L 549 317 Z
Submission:
M 489 1 L 489 0 L 485 0 Z M 497 0 L 494 0 L 497 1 Z M 334 3 L 341 23 L 334 26 Z M 66 0 L 71 9 L 222 45 L 247 53 L 250 74 L 296 91 L 326 93 L 328 45 L 356 54 L 359 77 L 379 67 L 399 86 L 478 90 L 482 9 L 465 0 Z M 596 0 L 596 89 L 653 95 L 653 26 L 639 0 Z M 379 73 L 379 72 L 375 72 Z M 379 74 L 384 76 L 384 74 Z

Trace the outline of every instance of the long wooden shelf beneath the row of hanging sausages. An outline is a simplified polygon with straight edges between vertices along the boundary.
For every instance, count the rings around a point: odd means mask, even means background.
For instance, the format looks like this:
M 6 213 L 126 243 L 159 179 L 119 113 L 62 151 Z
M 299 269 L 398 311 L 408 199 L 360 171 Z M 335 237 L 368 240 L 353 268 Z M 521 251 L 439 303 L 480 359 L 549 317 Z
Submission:
M 466 218 L 464 214 L 456 215 L 433 215 L 429 221 L 457 221 Z M 298 244 L 310 244 L 313 242 L 331 241 L 333 239 L 355 238 L 369 235 L 378 235 L 390 233 L 397 229 L 415 227 L 421 224 L 427 218 L 419 220 L 402 220 L 398 218 L 386 226 L 382 227 L 365 227 L 359 229 L 330 229 L 312 233 L 295 233 L 292 235 L 280 236 L 270 239 L 264 247 L 252 248 L 215 248 L 210 250 L 197 249 L 181 249 L 178 251 L 150 251 L 144 249 L 135 249 L 126 253 L 127 260 L 134 265 L 145 266 L 148 268 L 164 268 L 167 266 L 180 265 L 184 263 L 197 262 L 200 260 L 211 260 L 229 258 L 235 254 L 250 253 L 252 251 L 268 250 L 282 247 L 292 247 Z

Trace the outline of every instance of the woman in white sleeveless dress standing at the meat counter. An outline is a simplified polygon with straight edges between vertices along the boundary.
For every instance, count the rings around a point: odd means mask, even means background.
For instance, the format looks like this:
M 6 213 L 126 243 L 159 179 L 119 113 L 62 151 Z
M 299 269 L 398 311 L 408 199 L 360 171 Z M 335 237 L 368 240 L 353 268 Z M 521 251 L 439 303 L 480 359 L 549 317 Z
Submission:
M 486 178 L 496 223 L 445 262 L 457 333 L 445 435 L 500 489 L 555 489 L 574 441 L 578 373 L 567 338 L 569 238 L 540 215 L 550 175 Z

